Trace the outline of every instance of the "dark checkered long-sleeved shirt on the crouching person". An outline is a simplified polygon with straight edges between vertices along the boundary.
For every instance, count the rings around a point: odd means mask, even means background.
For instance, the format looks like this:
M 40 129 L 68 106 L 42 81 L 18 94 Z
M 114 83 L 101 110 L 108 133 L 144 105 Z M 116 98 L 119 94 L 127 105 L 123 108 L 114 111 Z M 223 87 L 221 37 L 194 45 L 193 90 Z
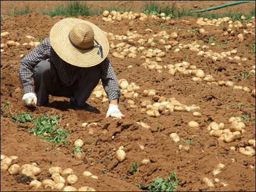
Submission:
M 34 93 L 33 69 L 41 61 L 49 59 L 58 74 L 58 78 L 64 87 L 71 86 L 79 75 L 81 67 L 70 65 L 62 60 L 53 50 L 50 38 L 44 39 L 40 45 L 36 46 L 27 56 L 19 62 L 19 78 L 23 86 L 23 93 Z M 106 57 L 99 63 L 101 69 L 101 80 L 103 88 L 109 97 L 109 101 L 120 97 L 117 77 L 110 60 Z

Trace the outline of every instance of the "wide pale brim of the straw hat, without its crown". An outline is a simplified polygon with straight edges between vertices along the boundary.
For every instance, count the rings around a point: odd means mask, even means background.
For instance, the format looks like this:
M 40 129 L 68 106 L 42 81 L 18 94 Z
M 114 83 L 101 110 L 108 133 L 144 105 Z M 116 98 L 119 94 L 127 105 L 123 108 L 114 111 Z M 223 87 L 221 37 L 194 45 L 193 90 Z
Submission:
M 78 23 L 85 23 L 92 27 L 94 39 L 102 47 L 103 58 L 97 54 L 99 48 L 80 50 L 75 48 L 70 40 L 69 33 Z M 79 18 L 66 18 L 56 23 L 50 31 L 50 42 L 53 50 L 64 61 L 77 67 L 93 67 L 102 62 L 109 53 L 109 41 L 104 32 L 96 25 Z M 96 46 L 94 41 L 94 46 Z

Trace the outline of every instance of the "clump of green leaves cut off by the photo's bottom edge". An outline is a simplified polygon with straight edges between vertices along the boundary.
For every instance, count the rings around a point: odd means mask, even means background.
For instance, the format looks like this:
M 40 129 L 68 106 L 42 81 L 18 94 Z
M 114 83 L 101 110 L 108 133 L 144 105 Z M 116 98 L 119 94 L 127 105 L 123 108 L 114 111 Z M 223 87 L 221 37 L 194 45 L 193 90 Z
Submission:
M 172 182 L 174 180 L 174 183 Z M 171 172 L 168 179 L 157 177 L 155 182 L 150 184 L 149 191 L 174 191 L 178 188 L 177 175 Z

